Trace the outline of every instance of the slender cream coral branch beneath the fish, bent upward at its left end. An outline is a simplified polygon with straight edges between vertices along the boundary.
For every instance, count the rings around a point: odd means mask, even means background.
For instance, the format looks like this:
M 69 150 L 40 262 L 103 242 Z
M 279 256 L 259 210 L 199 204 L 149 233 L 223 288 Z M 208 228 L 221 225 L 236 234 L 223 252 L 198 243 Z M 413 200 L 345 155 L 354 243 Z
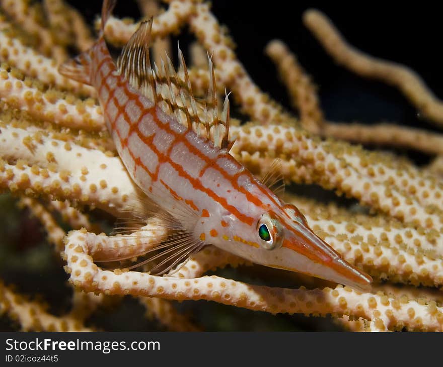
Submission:
M 216 276 L 194 279 L 155 277 L 137 271 L 109 271 L 98 267 L 91 255 L 86 231 L 66 237 L 64 258 L 69 281 L 88 292 L 130 294 L 176 300 L 213 300 L 227 305 L 271 313 L 352 315 L 371 320 L 374 330 L 399 326 L 443 330 L 443 309 L 434 303 L 402 303 L 382 294 L 361 294 L 348 287 L 308 291 L 252 286 Z

